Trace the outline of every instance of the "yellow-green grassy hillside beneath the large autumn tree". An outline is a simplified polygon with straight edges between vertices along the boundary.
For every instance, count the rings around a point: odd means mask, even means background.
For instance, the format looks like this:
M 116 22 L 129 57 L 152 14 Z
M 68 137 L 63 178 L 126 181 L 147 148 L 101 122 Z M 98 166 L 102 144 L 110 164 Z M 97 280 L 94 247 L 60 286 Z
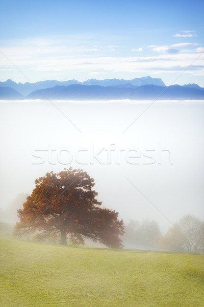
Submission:
M 13 238 L 0 235 L 0 253 Z M 204 256 L 18 240 L 1 256 L 1 307 L 201 307 Z

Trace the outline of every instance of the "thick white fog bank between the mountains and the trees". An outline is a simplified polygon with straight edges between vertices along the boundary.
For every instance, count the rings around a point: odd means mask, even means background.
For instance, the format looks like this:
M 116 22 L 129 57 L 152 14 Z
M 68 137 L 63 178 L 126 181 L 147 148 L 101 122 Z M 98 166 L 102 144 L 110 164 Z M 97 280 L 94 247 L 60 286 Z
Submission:
M 4 212 L 47 171 L 81 168 L 103 206 L 167 230 L 204 218 L 204 101 L 1 101 Z

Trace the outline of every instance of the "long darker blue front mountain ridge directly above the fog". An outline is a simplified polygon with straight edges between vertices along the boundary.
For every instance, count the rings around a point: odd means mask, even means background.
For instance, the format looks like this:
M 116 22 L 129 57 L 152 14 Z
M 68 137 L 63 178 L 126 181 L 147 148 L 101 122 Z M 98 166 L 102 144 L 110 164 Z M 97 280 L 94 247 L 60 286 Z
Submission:
M 110 100 L 110 99 L 204 99 L 204 91 L 180 85 L 99 86 L 73 84 L 38 90 L 28 99 Z

